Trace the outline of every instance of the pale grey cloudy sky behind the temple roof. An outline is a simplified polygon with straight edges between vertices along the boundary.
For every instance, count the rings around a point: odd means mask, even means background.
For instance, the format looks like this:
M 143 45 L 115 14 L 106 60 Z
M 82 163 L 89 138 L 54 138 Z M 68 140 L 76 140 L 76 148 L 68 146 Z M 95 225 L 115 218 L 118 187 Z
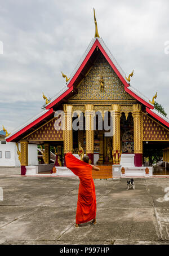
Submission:
M 12 131 L 64 86 L 61 71 L 72 73 L 99 35 L 131 85 L 169 113 L 168 0 L 0 0 L 0 130 Z M 168 42 L 169 43 L 169 42 Z

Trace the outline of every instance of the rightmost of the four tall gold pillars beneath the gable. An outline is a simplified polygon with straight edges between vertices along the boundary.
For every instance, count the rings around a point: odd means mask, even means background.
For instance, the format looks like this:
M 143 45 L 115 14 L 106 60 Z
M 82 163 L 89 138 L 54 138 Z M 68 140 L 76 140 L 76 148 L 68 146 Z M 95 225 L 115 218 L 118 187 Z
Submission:
M 134 153 L 143 154 L 141 104 L 133 105 L 133 117 L 134 117 Z

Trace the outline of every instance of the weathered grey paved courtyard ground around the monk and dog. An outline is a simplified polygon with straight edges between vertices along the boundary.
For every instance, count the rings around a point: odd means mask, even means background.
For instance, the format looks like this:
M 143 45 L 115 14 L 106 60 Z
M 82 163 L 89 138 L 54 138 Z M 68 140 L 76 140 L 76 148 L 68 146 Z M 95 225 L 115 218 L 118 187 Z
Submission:
M 169 178 L 95 179 L 97 225 L 75 228 L 76 177 L 0 167 L 0 244 L 169 244 Z

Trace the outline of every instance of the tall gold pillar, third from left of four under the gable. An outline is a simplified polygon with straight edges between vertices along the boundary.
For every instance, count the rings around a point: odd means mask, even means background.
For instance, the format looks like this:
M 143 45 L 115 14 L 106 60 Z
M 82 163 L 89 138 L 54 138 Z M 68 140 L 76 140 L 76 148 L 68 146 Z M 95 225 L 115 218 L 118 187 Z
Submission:
M 113 158 L 115 157 L 115 164 L 118 163 L 118 154 L 121 153 L 121 137 L 120 137 L 120 111 L 121 105 L 112 104 L 112 120 L 113 120 Z

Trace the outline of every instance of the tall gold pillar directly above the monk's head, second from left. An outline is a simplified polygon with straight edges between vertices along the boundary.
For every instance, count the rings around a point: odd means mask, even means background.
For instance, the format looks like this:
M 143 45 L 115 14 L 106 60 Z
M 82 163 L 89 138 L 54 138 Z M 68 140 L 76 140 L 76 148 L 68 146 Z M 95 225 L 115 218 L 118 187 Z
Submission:
M 94 105 L 85 105 L 86 155 L 94 154 Z

